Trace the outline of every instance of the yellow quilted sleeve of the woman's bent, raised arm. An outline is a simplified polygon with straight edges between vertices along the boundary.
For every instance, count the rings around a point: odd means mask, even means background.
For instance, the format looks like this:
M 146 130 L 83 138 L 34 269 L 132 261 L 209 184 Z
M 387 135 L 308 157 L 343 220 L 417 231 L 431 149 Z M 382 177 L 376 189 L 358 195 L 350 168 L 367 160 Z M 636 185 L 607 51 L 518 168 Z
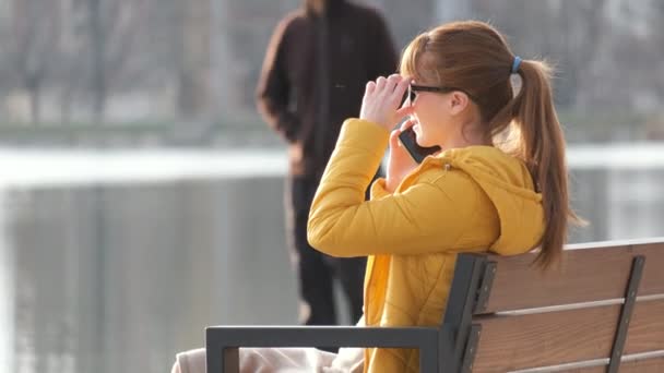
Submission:
M 472 229 L 479 186 L 462 171 L 440 172 L 402 193 L 374 184 L 376 200 L 364 201 L 389 133 L 378 125 L 348 120 L 316 193 L 308 222 L 309 243 L 333 256 L 416 255 L 458 251 Z

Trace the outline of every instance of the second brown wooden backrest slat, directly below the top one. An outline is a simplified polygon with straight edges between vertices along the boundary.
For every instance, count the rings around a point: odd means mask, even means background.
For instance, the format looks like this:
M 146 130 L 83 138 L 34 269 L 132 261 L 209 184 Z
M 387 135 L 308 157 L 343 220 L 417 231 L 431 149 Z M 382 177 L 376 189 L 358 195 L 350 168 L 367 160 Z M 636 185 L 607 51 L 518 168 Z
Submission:
M 474 372 L 507 372 L 608 358 L 620 305 L 479 316 Z M 664 350 L 664 300 L 638 302 L 625 353 Z

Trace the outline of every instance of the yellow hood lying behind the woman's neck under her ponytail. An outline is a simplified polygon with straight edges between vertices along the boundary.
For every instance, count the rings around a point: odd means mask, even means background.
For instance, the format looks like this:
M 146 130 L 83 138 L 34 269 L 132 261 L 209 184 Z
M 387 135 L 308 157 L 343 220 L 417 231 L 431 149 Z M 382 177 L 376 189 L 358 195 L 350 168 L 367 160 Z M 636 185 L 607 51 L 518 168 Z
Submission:
M 427 163 L 463 170 L 488 195 L 500 219 L 500 236 L 490 251 L 514 255 L 540 244 L 545 227 L 542 194 L 522 161 L 491 146 L 469 146 L 429 157 L 423 167 Z

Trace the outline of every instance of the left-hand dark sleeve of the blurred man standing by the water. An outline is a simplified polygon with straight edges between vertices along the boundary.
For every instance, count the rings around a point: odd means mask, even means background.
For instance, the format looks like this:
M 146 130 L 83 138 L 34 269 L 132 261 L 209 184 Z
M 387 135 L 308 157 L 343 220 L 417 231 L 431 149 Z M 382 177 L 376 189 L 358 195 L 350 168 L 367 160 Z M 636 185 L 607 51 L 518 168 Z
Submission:
M 284 40 L 290 21 L 282 21 L 272 35 L 256 92 L 259 112 L 289 143 L 297 140 L 299 119 L 289 109 L 290 85 L 284 61 Z

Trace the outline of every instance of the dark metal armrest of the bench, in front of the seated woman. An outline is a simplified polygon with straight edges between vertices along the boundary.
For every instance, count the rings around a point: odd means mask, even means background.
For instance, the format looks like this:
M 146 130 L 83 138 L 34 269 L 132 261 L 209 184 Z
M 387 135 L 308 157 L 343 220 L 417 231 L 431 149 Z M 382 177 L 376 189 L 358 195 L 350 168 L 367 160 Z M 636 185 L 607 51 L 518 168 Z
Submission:
M 239 347 L 389 347 L 419 349 L 422 372 L 438 371 L 435 327 L 211 326 L 205 329 L 208 373 L 239 372 Z

